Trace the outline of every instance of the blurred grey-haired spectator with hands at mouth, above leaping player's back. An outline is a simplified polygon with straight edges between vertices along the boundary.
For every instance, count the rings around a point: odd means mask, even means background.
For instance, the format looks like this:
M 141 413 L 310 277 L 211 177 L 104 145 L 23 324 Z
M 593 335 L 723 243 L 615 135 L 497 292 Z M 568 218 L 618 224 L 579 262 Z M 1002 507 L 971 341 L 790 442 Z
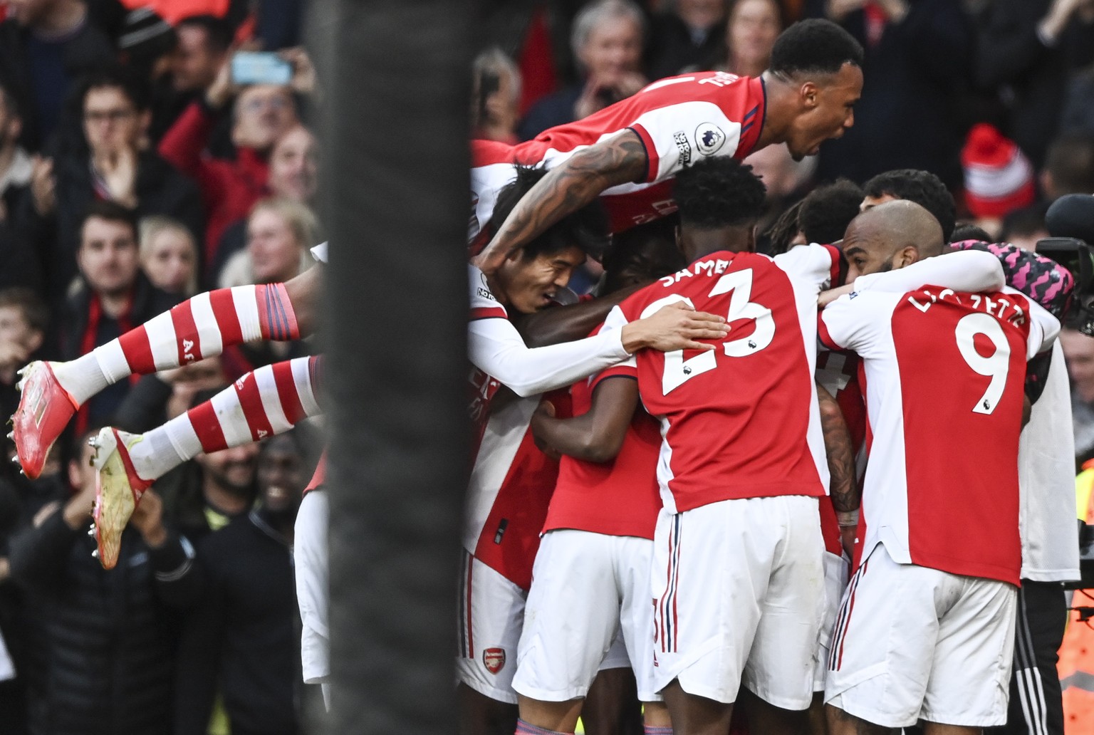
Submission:
M 544 97 L 521 122 L 522 139 L 580 120 L 645 86 L 641 72 L 645 16 L 630 0 L 598 0 L 573 21 L 571 46 L 584 82 Z

